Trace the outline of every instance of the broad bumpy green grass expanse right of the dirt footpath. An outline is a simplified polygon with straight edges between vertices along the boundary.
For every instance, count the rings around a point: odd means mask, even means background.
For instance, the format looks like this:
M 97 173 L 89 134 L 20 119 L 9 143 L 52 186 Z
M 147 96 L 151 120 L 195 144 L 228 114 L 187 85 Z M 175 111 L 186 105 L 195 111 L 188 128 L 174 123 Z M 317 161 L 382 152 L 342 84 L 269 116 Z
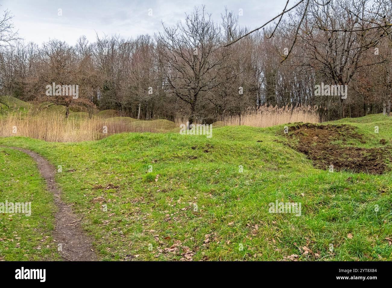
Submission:
M 388 117 L 335 123 L 365 134 L 365 144 L 352 145 L 390 143 Z M 212 138 L 123 133 L 81 143 L 11 137 L 0 144 L 62 165 L 62 198 L 104 260 L 392 260 L 385 239 L 392 238 L 392 173 L 316 169 L 276 141 L 284 140 L 283 127 L 220 127 Z M 276 199 L 300 202 L 301 216 L 269 213 Z

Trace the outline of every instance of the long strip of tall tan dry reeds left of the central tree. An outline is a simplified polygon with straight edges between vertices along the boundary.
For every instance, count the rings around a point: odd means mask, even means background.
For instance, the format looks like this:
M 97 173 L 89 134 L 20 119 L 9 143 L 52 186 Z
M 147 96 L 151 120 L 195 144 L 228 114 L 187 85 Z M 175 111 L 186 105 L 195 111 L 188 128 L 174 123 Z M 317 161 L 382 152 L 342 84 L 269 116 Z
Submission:
M 49 142 L 79 142 L 98 140 L 122 132 L 158 132 L 163 129 L 159 121 L 153 125 L 139 125 L 119 119 L 94 116 L 70 117 L 54 112 L 7 113 L 0 117 L 0 137 L 26 136 Z M 106 127 L 106 131 L 104 131 Z M 106 132 L 106 133 L 104 133 Z

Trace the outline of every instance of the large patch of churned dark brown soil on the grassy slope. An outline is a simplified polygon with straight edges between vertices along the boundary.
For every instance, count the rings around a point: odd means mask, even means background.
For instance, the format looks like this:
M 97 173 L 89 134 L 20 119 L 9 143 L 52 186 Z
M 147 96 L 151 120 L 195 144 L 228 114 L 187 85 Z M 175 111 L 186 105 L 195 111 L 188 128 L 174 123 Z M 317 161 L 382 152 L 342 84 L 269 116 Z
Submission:
M 294 124 L 288 137 L 298 140 L 288 145 L 313 160 L 316 168 L 334 171 L 350 170 L 368 174 L 383 174 L 387 170 L 385 160 L 390 158 L 390 148 L 348 147 L 347 142 L 356 139 L 366 143 L 356 127 L 350 125 Z M 336 144 L 334 141 L 341 141 Z

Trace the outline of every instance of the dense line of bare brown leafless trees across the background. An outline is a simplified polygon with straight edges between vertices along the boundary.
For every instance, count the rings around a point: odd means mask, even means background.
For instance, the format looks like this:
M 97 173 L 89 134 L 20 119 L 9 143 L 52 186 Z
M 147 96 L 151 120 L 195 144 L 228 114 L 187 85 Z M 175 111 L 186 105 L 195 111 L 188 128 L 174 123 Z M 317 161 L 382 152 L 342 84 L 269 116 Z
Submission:
M 391 2 L 303 0 L 257 31 L 239 17 L 226 9 L 215 21 L 195 7 L 154 35 L 81 36 L 74 45 L 15 40 L 4 21 L 12 41 L 0 34 L 0 95 L 63 105 L 66 116 L 70 108 L 115 109 L 190 124 L 261 106 L 311 107 L 327 120 L 390 112 Z M 47 95 L 52 83 L 78 85 L 78 97 Z M 321 84 L 345 86 L 347 97 L 315 93 Z

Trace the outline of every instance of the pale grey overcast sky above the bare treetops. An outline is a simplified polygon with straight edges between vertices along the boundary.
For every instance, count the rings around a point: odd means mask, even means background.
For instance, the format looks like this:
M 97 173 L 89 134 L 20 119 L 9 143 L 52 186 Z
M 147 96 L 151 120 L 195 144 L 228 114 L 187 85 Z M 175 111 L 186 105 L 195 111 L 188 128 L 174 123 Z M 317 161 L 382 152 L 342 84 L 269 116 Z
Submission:
M 161 21 L 175 24 L 184 19 L 185 12 L 202 4 L 216 21 L 225 6 L 236 13 L 242 9 L 240 24 L 255 28 L 281 13 L 285 3 L 286 0 L 0 0 L 0 9 L 9 9 L 14 15 L 19 36 L 27 42 L 41 44 L 57 38 L 73 45 L 81 35 L 94 41 L 96 32 L 124 38 L 153 35 L 162 31 Z M 62 16 L 58 15 L 59 9 Z

